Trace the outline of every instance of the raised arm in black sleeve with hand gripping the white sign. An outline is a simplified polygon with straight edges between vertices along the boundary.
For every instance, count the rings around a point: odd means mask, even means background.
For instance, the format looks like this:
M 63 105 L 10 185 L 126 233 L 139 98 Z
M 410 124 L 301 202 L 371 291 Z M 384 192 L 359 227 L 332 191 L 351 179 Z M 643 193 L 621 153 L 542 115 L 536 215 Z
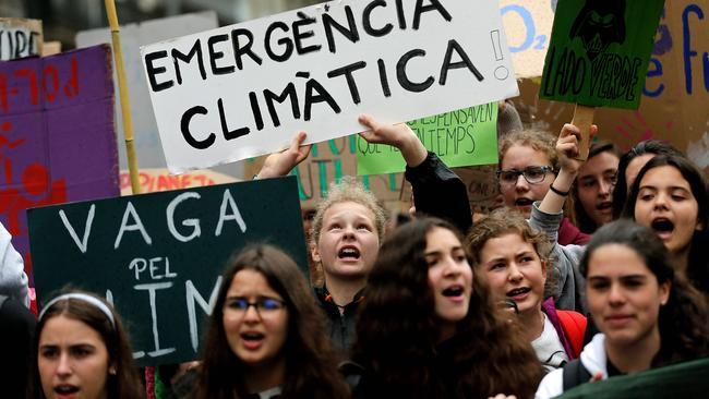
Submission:
M 472 213 L 462 180 L 434 153 L 428 152 L 406 123 L 378 123 L 365 114 L 359 121 L 369 128 L 369 131 L 360 133 L 362 138 L 392 145 L 401 153 L 406 160 L 405 177 L 413 189 L 417 214 L 446 219 L 467 233 L 472 226 Z

